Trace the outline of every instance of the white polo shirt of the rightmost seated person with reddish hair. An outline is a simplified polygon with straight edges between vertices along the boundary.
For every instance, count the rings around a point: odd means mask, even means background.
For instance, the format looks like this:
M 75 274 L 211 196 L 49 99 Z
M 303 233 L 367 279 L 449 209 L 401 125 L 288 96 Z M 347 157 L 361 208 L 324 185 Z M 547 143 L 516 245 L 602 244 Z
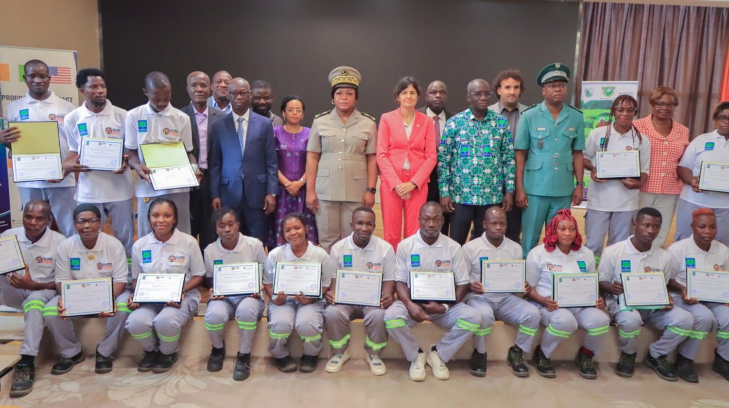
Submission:
M 668 247 L 668 254 L 674 257 L 677 264 L 677 271 L 674 280 L 686 286 L 687 268 L 701 270 L 725 270 L 729 264 L 729 248 L 717 240 L 712 241 L 709 251 L 699 248 L 693 240 L 693 234 L 689 238 L 679 240 Z

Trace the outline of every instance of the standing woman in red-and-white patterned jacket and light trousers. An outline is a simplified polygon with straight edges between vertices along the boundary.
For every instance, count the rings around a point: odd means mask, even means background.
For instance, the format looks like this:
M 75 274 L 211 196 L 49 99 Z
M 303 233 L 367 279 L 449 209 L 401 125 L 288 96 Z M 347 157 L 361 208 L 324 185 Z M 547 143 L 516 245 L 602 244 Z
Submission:
M 669 87 L 650 91 L 651 113 L 633 124 L 650 141 L 650 170 L 640 189 L 638 208 L 652 207 L 660 211 L 666 222 L 660 226 L 654 245 L 664 246 L 668 229 L 674 220 L 682 183 L 674 170 L 688 146 L 688 127 L 674 120 L 679 97 Z

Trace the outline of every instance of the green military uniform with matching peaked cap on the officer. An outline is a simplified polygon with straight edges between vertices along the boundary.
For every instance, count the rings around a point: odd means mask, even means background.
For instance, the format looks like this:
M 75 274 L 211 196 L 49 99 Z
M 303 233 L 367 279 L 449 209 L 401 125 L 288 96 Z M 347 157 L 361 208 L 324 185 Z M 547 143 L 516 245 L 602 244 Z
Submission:
M 542 68 L 537 84 L 567 79 L 569 68 L 555 63 Z M 558 210 L 572 204 L 572 151 L 585 149 L 584 128 L 582 111 L 567 103 L 556 121 L 545 102 L 521 114 L 514 149 L 529 150 L 523 171 L 523 187 L 529 203 L 522 215 L 521 247 L 525 258 L 537 246 L 542 227 Z

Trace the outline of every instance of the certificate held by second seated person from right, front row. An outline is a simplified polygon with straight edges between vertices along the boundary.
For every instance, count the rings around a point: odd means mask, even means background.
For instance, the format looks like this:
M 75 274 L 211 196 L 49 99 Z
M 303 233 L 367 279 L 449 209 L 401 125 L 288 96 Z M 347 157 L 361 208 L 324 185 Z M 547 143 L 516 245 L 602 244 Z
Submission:
M 668 288 L 663 272 L 621 273 L 626 307 L 660 309 L 668 306 Z

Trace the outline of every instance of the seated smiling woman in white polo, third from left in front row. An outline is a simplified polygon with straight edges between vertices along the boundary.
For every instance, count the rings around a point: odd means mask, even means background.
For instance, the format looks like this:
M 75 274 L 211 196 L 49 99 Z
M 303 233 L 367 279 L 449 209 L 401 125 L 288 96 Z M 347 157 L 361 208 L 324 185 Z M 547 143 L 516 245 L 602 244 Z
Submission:
M 147 221 L 152 232 L 132 247 L 132 291 L 141 273 L 184 273 L 182 300 L 167 303 L 134 303 L 129 297 L 126 329 L 144 352 L 137 371 L 168 372 L 177 361 L 180 331 L 198 312 L 198 286 L 205 277 L 198 240 L 177 229 L 177 206 L 158 197 L 149 204 Z

